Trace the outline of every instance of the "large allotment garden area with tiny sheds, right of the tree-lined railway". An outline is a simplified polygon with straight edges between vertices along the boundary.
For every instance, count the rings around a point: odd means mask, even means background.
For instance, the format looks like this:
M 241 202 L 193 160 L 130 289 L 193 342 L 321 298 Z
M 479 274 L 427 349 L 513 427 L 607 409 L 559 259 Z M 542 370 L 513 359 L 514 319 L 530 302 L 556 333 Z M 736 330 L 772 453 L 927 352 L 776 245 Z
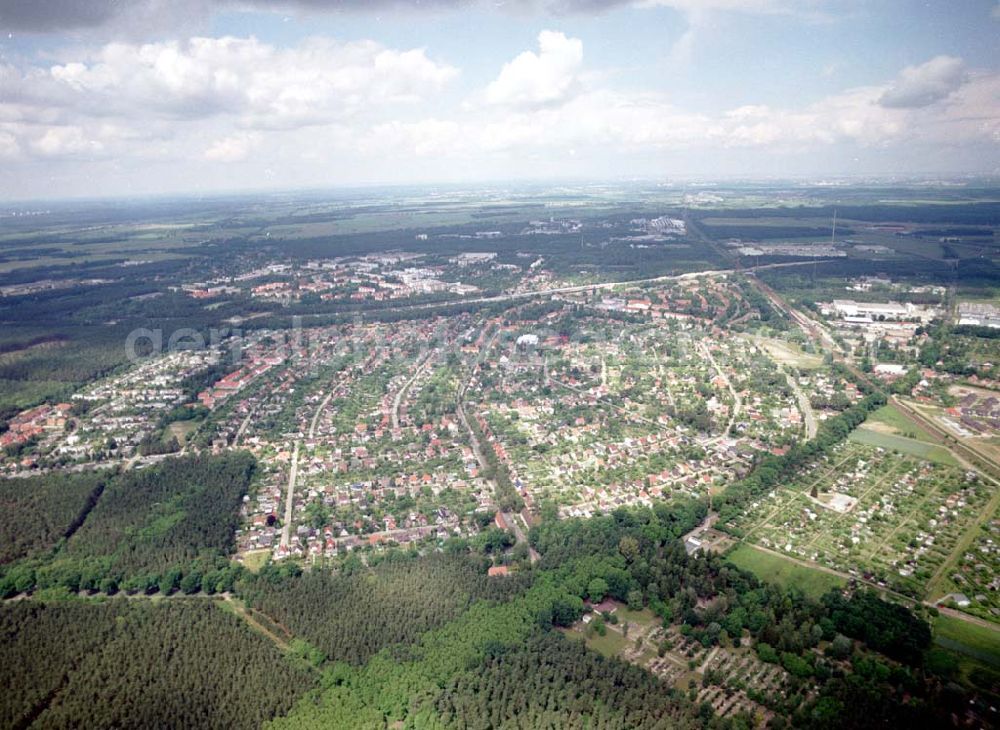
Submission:
M 988 498 L 974 474 L 846 442 L 734 526 L 764 548 L 922 597 Z

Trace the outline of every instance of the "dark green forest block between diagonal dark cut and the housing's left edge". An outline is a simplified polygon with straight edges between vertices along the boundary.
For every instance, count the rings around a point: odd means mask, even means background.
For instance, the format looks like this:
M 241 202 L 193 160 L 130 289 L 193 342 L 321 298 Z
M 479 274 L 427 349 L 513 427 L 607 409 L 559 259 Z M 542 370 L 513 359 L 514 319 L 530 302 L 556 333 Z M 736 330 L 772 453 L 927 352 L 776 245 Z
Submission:
M 54 555 L 3 567 L 0 593 L 229 590 L 240 572 L 229 561 L 238 510 L 254 469 L 252 456 L 231 452 L 168 459 L 109 478 Z

